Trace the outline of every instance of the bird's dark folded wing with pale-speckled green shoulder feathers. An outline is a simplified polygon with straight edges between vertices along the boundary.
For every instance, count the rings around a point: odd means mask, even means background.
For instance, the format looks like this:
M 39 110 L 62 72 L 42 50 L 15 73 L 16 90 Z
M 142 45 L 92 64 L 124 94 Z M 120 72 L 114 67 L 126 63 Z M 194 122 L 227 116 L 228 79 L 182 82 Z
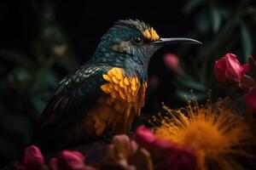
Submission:
M 44 109 L 33 139 L 42 139 L 60 129 L 65 131 L 79 121 L 102 96 L 101 86 L 106 82 L 102 74 L 110 69 L 108 65 L 84 65 L 64 78 Z

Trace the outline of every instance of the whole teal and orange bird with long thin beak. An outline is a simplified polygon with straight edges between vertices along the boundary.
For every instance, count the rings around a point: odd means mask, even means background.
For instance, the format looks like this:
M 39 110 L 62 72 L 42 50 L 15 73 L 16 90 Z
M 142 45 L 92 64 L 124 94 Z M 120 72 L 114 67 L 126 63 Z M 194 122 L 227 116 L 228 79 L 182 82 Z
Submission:
M 64 77 L 45 107 L 32 143 L 41 148 L 128 133 L 140 116 L 148 87 L 148 63 L 161 47 L 183 37 L 162 38 L 140 20 L 118 20 L 102 36 L 95 54 Z

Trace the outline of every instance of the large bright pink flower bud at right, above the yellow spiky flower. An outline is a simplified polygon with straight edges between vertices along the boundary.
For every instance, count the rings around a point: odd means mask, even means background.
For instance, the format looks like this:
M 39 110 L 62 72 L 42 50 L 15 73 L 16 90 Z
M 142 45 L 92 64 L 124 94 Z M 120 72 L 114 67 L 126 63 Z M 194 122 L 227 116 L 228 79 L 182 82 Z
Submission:
M 248 69 L 248 65 L 240 64 L 235 54 L 225 54 L 223 58 L 215 61 L 214 74 L 218 82 L 232 86 L 239 84 L 241 77 L 247 73 Z

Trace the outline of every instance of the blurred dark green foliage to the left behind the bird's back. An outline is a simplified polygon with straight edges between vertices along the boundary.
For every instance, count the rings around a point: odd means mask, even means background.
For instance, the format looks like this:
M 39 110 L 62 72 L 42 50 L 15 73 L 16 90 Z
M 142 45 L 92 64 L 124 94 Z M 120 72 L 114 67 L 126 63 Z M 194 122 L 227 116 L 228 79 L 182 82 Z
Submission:
M 57 83 L 78 66 L 53 9 L 45 4 L 38 14 L 28 54 L 0 48 L 0 164 L 20 156 Z

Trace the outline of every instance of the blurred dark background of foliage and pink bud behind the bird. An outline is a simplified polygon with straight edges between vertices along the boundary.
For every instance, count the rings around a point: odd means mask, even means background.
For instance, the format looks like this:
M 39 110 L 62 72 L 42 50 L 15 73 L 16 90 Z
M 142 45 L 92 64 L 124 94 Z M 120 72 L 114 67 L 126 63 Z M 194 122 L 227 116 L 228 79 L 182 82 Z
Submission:
M 143 117 L 161 102 L 185 105 L 190 89 L 200 102 L 224 97 L 213 76 L 216 59 L 232 52 L 241 63 L 255 54 L 253 0 L 164 2 L 1 1 L 0 163 L 19 157 L 61 78 L 90 58 L 102 35 L 120 19 L 144 20 L 160 37 L 192 37 L 201 46 L 162 48 L 149 65 Z

